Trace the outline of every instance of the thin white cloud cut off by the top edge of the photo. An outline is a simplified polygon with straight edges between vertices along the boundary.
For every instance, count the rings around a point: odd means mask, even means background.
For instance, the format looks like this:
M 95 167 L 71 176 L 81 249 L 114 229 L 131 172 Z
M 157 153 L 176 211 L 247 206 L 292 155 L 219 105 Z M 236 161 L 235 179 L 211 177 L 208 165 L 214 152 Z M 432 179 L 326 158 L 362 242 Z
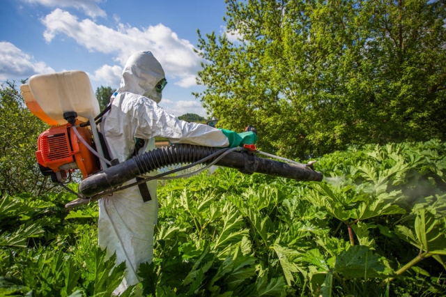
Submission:
M 100 9 L 98 2 L 100 0 L 22 0 L 27 3 L 36 3 L 49 7 L 73 7 L 84 10 L 89 17 L 106 17 L 107 13 Z

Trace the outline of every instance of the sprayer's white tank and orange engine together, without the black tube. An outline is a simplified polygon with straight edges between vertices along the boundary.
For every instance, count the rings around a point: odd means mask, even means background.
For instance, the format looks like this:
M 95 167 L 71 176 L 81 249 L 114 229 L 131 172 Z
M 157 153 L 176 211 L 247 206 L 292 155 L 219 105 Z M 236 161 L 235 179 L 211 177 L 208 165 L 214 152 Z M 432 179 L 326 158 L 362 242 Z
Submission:
M 40 171 L 51 176 L 55 183 L 65 181 L 68 172 L 75 169 L 80 170 L 82 178 L 98 172 L 102 163 L 98 164 L 87 148 L 98 146 L 93 142 L 93 139 L 100 139 L 98 130 L 95 125 L 80 125 L 95 123 L 95 116 L 100 114 L 86 73 L 72 70 L 33 75 L 20 89 L 29 110 L 51 126 L 38 137 L 36 157 Z M 102 153 L 102 148 L 98 151 Z

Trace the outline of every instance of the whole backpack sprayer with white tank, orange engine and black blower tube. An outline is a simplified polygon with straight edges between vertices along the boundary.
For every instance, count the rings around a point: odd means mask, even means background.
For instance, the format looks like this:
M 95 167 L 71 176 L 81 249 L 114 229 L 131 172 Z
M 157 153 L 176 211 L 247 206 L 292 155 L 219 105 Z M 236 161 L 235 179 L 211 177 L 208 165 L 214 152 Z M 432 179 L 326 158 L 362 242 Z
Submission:
M 34 75 L 28 84 L 20 86 L 29 110 L 51 128 L 38 137 L 36 158 L 40 171 L 51 176 L 54 183 L 79 197 L 66 204 L 67 208 L 89 203 L 118 190 L 141 185 L 152 179 L 184 178 L 197 174 L 212 165 L 231 167 L 244 174 L 258 172 L 298 181 L 321 181 L 323 175 L 307 165 L 257 151 L 254 145 L 238 148 L 213 148 L 190 144 L 174 144 L 156 148 L 130 160 L 118 163 L 110 160 L 107 146 L 97 125 L 108 108 L 100 112 L 98 100 L 86 73 L 74 70 L 49 75 Z M 256 132 L 249 126 L 247 130 Z M 254 153 L 287 161 L 259 158 Z M 169 165 L 187 164 L 156 176 L 144 174 Z M 206 164 L 196 172 L 167 176 L 175 172 Z M 79 193 L 66 187 L 71 173 L 79 169 L 82 181 Z M 141 178 L 141 176 L 144 176 Z M 68 178 L 70 177 L 70 178 Z M 124 183 L 137 178 L 134 183 Z

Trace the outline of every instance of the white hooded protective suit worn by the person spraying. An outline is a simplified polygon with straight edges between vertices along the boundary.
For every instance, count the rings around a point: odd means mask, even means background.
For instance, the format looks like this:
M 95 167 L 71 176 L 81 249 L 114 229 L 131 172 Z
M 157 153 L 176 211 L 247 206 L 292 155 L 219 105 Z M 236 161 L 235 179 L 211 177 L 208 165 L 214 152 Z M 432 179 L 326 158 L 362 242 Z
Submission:
M 130 56 L 121 87 L 112 97 L 112 109 L 102 126 L 112 158 L 118 158 L 119 162 L 130 158 L 136 138 L 145 139 L 139 153 L 155 148 L 154 137 L 167 137 L 172 143 L 229 146 L 222 131 L 180 121 L 159 107 L 161 93 L 155 90 L 155 85 L 161 79 L 164 79 L 164 70 L 151 52 Z M 158 212 L 157 182 L 149 181 L 147 185 L 151 201 L 143 201 L 137 186 L 99 200 L 99 245 L 107 248 L 107 257 L 116 252 L 116 264 L 125 261 L 127 265 L 125 279 L 115 294 L 137 284 L 139 264 L 152 261 L 153 227 Z

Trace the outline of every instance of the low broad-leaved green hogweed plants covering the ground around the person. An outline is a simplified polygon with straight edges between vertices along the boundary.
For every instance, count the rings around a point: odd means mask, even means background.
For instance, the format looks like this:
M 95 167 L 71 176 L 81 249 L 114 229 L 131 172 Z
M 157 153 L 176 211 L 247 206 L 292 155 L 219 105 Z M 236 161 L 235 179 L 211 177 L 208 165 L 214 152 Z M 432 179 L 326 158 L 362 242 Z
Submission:
M 159 189 L 156 296 L 444 296 L 446 144 L 325 155 L 323 183 L 219 169 Z M 95 244 L 97 204 L 0 203 L 0 294 L 109 296 L 123 276 Z M 131 296 L 131 288 L 126 296 Z M 29 293 L 31 295 L 31 293 Z M 6 295 L 7 296 L 7 295 Z

